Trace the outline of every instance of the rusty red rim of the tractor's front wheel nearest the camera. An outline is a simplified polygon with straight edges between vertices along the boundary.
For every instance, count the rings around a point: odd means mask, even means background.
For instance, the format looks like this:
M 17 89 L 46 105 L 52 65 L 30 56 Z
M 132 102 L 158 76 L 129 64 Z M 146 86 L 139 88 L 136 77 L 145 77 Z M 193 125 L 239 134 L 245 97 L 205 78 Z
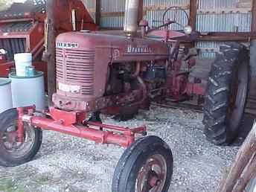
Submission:
M 160 154 L 150 156 L 139 170 L 136 192 L 160 192 L 167 178 L 167 163 Z

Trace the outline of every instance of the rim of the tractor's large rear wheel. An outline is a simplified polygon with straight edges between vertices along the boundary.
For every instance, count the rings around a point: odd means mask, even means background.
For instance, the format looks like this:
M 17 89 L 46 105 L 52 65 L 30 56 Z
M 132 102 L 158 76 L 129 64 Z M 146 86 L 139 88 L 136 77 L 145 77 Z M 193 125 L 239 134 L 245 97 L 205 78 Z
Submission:
M 231 99 L 228 106 L 228 127 L 235 132 L 240 125 L 246 106 L 248 92 L 248 68 L 246 63 L 239 63 L 231 83 Z

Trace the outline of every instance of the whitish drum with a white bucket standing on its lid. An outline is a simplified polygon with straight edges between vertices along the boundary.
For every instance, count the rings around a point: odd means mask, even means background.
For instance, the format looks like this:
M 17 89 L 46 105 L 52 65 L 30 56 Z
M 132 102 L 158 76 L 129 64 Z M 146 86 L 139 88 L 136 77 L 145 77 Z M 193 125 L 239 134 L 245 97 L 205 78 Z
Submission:
M 19 77 L 10 73 L 13 107 L 32 106 L 42 111 L 45 109 L 44 76 L 41 71 L 36 71 L 33 77 Z

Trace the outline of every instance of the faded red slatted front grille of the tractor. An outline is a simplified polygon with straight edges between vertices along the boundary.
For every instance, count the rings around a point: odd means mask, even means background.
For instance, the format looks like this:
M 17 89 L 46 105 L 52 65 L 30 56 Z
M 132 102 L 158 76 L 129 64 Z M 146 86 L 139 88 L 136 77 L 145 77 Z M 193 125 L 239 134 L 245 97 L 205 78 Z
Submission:
M 95 51 L 57 48 L 56 54 L 57 80 L 79 85 L 81 94 L 93 95 Z

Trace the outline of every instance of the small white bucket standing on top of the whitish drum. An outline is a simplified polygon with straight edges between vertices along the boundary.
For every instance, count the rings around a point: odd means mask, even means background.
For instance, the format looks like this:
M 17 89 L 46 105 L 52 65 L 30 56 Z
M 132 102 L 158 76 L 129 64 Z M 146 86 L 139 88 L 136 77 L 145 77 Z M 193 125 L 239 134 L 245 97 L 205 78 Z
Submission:
M 16 66 L 16 75 L 18 77 L 25 77 L 25 69 L 32 65 L 32 54 L 22 53 L 14 54 L 15 66 Z

